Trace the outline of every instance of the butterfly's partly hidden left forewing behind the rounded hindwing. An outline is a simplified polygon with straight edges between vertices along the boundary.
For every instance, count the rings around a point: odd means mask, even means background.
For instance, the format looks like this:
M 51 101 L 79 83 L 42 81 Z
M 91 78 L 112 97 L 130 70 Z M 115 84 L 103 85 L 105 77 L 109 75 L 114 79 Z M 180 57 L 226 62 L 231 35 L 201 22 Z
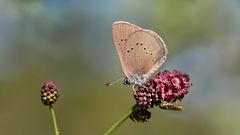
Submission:
M 118 21 L 114 22 L 112 25 L 112 34 L 113 34 L 113 40 L 114 45 L 118 54 L 118 57 L 120 59 L 121 66 L 123 68 L 124 73 L 126 74 L 125 70 L 127 67 L 126 64 L 124 64 L 124 57 L 123 53 L 126 49 L 126 41 L 130 34 L 132 34 L 134 31 L 142 29 L 134 24 L 131 24 L 129 22 L 124 21 Z

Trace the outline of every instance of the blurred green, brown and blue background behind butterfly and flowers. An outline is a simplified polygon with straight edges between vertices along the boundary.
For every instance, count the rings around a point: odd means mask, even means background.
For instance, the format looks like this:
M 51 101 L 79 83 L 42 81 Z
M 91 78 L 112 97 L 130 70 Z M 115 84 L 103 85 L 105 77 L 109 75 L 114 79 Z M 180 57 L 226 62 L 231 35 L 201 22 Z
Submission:
M 54 80 L 64 135 L 101 135 L 135 101 L 123 77 L 112 23 L 128 21 L 162 36 L 161 70 L 190 74 L 182 112 L 150 110 L 114 134 L 239 135 L 239 0 L 0 0 L 0 134 L 53 134 L 40 87 Z

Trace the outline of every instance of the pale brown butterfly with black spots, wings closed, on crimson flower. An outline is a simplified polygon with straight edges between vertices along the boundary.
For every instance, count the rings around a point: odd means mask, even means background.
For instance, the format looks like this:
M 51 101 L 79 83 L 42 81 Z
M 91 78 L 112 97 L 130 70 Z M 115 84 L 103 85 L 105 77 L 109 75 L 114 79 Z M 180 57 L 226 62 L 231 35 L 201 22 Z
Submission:
M 143 85 L 167 59 L 164 41 L 152 30 L 118 21 L 112 24 L 112 34 L 125 84 Z

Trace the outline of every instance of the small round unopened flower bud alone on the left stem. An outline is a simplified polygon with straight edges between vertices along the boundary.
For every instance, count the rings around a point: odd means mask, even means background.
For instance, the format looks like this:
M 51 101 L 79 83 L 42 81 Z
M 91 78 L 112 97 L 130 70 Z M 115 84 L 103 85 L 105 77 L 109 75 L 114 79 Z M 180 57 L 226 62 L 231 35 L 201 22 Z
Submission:
M 54 84 L 53 81 L 46 82 L 41 87 L 41 100 L 44 105 L 52 105 L 57 101 L 59 97 L 59 91 L 57 86 Z

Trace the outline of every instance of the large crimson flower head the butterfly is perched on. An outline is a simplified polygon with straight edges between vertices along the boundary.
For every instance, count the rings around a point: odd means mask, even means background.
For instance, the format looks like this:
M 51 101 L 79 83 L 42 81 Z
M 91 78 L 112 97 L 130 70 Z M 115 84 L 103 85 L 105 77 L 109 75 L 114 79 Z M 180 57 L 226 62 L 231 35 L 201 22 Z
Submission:
M 159 106 L 161 101 L 175 102 L 188 93 L 190 87 L 189 75 L 177 70 L 158 73 L 145 85 L 139 86 L 134 98 L 140 108 Z

